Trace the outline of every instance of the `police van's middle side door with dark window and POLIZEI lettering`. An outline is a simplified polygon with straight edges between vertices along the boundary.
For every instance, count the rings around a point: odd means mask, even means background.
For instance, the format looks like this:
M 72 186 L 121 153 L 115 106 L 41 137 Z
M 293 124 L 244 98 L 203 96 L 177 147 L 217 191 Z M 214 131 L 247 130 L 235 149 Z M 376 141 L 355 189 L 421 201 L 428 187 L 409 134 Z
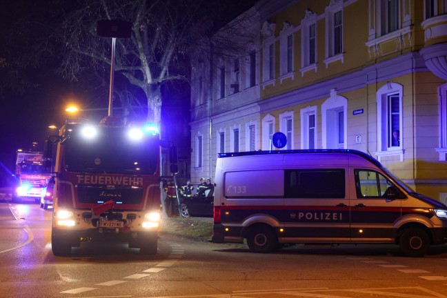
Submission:
M 295 243 L 350 241 L 347 168 L 284 173 L 284 237 Z

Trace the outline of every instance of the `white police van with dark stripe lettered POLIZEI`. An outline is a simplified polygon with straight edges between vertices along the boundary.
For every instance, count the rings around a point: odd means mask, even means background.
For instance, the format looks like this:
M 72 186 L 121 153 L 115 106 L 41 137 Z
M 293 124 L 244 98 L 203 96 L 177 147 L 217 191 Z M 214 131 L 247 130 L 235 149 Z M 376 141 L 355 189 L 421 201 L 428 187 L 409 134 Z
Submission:
M 215 182 L 217 243 L 389 243 L 421 257 L 447 242 L 447 206 L 357 150 L 221 153 Z

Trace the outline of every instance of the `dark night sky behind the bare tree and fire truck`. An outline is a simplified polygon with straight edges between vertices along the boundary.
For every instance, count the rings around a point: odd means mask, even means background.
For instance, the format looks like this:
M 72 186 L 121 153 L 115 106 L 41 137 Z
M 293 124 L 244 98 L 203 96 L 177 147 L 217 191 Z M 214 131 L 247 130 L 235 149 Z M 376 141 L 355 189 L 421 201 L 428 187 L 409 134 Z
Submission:
M 199 0 L 191 0 L 199 1 Z M 206 6 L 215 12 L 216 3 L 225 6 L 225 12 L 219 13 L 220 18 L 231 19 L 241 10 L 248 8 L 255 0 L 204 0 Z M 214 2 L 212 2 L 214 1 Z M 110 68 L 104 72 L 103 80 L 95 86 L 91 81 L 68 81 L 57 72 L 57 66 L 63 52 L 57 48 L 47 51 L 42 46 L 51 28 L 61 23 L 65 13 L 71 7 L 79 5 L 82 0 L 14 0 L 3 1 L 0 10 L 0 186 L 6 183 L 6 177 L 14 169 L 15 152 L 21 148 L 32 148 L 32 142 L 37 142 L 37 150 L 43 150 L 43 144 L 54 130 L 48 128 L 55 124 L 61 126 L 68 116 L 67 106 L 76 103 L 84 111 L 77 117 L 97 120 L 107 116 Z M 220 23 L 225 20 L 220 19 Z M 47 32 L 48 30 L 48 32 Z M 56 50 L 54 50 L 56 49 Z M 115 83 L 122 78 L 115 75 Z M 189 110 L 189 86 L 170 85 L 165 91 L 163 106 L 176 106 L 168 99 L 180 101 Z M 131 90 L 137 100 L 139 91 Z M 140 93 L 141 95 L 141 93 Z M 143 98 L 141 103 L 146 104 Z M 114 106 L 119 107 L 115 99 Z M 103 110 L 100 110 L 103 109 Z M 162 108 L 163 115 L 169 119 L 169 113 Z M 178 114 L 178 113 L 177 113 Z M 114 112 L 119 115 L 119 110 Z M 135 110 L 133 117 L 145 117 L 146 110 Z M 184 121 L 184 119 L 183 119 Z M 187 122 L 186 122 L 187 123 Z M 175 127 L 175 123 L 170 123 Z M 183 124 L 182 124 L 183 125 Z

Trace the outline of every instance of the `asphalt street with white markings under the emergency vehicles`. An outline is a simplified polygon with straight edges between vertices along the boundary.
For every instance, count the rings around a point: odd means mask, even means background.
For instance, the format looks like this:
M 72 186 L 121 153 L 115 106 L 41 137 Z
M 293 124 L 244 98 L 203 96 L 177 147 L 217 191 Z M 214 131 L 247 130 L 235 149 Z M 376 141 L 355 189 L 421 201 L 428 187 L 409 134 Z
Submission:
M 397 246 L 255 254 L 163 234 L 153 256 L 82 244 L 54 257 L 51 215 L 37 203 L 0 203 L 0 297 L 447 297 L 447 246 L 424 258 L 402 257 Z

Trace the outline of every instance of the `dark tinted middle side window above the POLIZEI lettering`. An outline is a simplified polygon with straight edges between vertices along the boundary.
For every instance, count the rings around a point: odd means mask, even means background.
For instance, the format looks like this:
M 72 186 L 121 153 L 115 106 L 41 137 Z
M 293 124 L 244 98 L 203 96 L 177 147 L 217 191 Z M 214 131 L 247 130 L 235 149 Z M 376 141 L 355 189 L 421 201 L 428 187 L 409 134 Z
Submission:
M 292 198 L 344 198 L 344 169 L 286 170 L 284 191 Z

